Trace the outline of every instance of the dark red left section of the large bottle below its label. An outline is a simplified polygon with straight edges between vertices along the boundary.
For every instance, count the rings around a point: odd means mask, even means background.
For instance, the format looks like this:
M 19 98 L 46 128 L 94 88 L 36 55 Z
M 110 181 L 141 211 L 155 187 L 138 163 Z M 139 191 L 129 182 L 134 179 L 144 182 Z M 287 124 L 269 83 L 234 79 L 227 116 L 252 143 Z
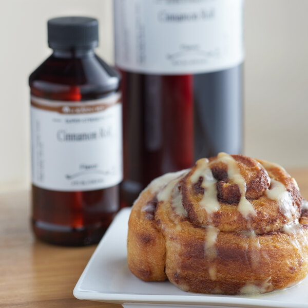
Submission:
M 192 75 L 121 73 L 121 204 L 130 206 L 151 180 L 194 163 Z

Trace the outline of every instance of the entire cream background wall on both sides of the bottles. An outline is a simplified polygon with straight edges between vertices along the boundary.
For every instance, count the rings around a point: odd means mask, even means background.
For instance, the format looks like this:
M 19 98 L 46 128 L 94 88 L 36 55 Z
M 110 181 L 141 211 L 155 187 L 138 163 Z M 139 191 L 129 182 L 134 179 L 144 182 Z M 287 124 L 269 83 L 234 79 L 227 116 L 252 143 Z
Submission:
M 232 1 L 232 0 L 230 0 Z M 308 1 L 246 0 L 244 153 L 308 166 Z M 46 21 L 99 18 L 97 53 L 113 62 L 112 0 L 0 1 L 0 191 L 29 187 L 28 75 L 49 54 Z

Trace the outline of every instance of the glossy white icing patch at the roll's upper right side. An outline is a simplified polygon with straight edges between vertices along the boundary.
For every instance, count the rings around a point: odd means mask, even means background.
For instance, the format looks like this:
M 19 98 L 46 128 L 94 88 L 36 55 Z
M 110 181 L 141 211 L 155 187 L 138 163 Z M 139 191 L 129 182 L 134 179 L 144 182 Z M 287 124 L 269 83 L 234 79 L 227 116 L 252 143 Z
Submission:
M 271 187 L 265 190 L 265 195 L 269 199 L 277 201 L 281 213 L 288 218 L 289 221 L 292 220 L 296 212 L 296 207 L 293 206 L 290 192 L 286 190 L 281 182 L 271 179 Z

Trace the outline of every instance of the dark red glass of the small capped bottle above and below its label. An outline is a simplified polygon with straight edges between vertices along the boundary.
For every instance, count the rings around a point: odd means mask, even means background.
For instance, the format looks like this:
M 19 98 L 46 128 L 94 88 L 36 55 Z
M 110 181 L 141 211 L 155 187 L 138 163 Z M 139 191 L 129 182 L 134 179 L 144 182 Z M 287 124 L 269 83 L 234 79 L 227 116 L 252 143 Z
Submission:
M 119 89 L 119 73 L 93 48 L 54 48 L 29 78 L 31 95 L 54 101 L 101 99 Z M 119 210 L 119 185 L 90 191 L 55 191 L 32 185 L 37 238 L 62 245 L 97 243 Z

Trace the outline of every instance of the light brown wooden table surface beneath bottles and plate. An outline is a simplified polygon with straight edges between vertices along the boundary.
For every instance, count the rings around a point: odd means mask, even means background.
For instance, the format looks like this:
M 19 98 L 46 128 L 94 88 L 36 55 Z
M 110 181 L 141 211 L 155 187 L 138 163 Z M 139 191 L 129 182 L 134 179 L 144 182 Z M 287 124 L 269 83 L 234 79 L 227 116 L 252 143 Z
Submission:
M 308 199 L 308 168 L 288 171 Z M 29 191 L 1 194 L 0 213 L 0 307 L 121 307 L 73 297 L 96 246 L 61 247 L 35 240 Z

